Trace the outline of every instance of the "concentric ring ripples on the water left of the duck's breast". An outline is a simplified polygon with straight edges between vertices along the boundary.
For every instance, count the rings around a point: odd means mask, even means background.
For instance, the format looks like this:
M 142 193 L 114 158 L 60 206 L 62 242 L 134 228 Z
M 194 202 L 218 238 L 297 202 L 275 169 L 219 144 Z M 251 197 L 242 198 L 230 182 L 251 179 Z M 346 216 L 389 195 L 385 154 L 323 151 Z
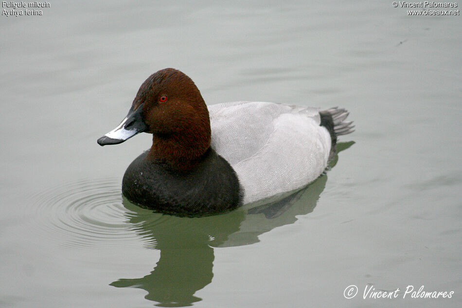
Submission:
M 118 180 L 58 185 L 32 196 L 37 223 L 31 225 L 61 247 L 95 246 L 111 252 L 141 247 L 138 223 L 129 222 L 137 213 L 125 208 L 122 198 Z

